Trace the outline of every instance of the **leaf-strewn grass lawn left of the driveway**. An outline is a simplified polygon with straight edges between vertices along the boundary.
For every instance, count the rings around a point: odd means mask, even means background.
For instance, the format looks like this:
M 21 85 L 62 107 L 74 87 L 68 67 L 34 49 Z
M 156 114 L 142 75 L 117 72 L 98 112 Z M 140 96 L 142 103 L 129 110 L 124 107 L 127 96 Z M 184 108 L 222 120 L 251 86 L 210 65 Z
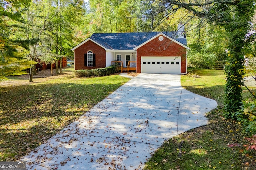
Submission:
M 129 80 L 73 77 L 66 68 L 62 75 L 23 85 L 17 84 L 28 79 L 10 77 L 15 86 L 0 87 L 0 161 L 24 156 Z

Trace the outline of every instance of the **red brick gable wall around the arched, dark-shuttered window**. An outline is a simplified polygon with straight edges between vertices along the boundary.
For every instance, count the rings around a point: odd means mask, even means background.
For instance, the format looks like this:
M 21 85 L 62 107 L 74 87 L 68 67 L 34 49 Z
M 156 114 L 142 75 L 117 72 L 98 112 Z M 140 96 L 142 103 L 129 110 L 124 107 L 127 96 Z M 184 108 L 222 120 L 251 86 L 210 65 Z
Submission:
M 84 66 L 84 54 L 91 50 L 95 54 L 96 66 Z M 106 67 L 106 51 L 92 41 L 87 41 L 75 49 L 75 70 Z

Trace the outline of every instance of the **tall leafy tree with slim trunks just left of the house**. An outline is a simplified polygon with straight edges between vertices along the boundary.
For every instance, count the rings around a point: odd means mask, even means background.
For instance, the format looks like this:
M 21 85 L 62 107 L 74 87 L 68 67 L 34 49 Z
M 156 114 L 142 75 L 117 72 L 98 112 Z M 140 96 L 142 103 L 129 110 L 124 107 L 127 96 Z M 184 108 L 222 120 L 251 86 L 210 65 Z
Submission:
M 40 37 L 42 61 L 49 61 L 49 57 L 56 63 L 58 73 L 58 60 L 62 57 L 73 56 L 71 48 L 74 47 L 74 29 L 81 21 L 80 16 L 84 12 L 84 1 L 82 0 L 51 0 L 50 16 L 44 33 Z M 45 59 L 44 59 L 45 58 Z M 52 60 L 49 63 L 52 63 Z M 60 64 L 60 73 L 62 64 Z

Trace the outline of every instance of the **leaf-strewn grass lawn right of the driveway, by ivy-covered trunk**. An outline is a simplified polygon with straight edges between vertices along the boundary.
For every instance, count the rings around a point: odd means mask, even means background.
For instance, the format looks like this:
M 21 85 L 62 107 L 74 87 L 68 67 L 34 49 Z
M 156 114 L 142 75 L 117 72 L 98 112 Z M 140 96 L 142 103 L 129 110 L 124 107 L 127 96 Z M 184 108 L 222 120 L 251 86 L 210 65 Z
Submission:
M 222 117 L 225 75 L 223 70 L 188 69 L 181 76 L 183 88 L 217 101 L 208 113 L 209 124 L 166 141 L 146 163 L 144 170 L 255 170 L 256 150 L 247 151 L 243 125 Z M 200 76 L 200 78 L 197 78 Z M 244 89 L 246 100 L 252 96 Z M 236 147 L 228 147 L 237 144 Z

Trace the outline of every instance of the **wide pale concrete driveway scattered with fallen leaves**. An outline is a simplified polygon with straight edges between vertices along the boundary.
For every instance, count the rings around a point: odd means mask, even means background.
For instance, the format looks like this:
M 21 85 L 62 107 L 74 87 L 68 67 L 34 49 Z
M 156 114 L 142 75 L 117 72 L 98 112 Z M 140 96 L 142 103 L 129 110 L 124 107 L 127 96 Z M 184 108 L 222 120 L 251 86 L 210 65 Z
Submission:
M 180 75 L 139 74 L 22 158 L 27 169 L 142 169 L 166 139 L 207 124 L 217 103 Z

